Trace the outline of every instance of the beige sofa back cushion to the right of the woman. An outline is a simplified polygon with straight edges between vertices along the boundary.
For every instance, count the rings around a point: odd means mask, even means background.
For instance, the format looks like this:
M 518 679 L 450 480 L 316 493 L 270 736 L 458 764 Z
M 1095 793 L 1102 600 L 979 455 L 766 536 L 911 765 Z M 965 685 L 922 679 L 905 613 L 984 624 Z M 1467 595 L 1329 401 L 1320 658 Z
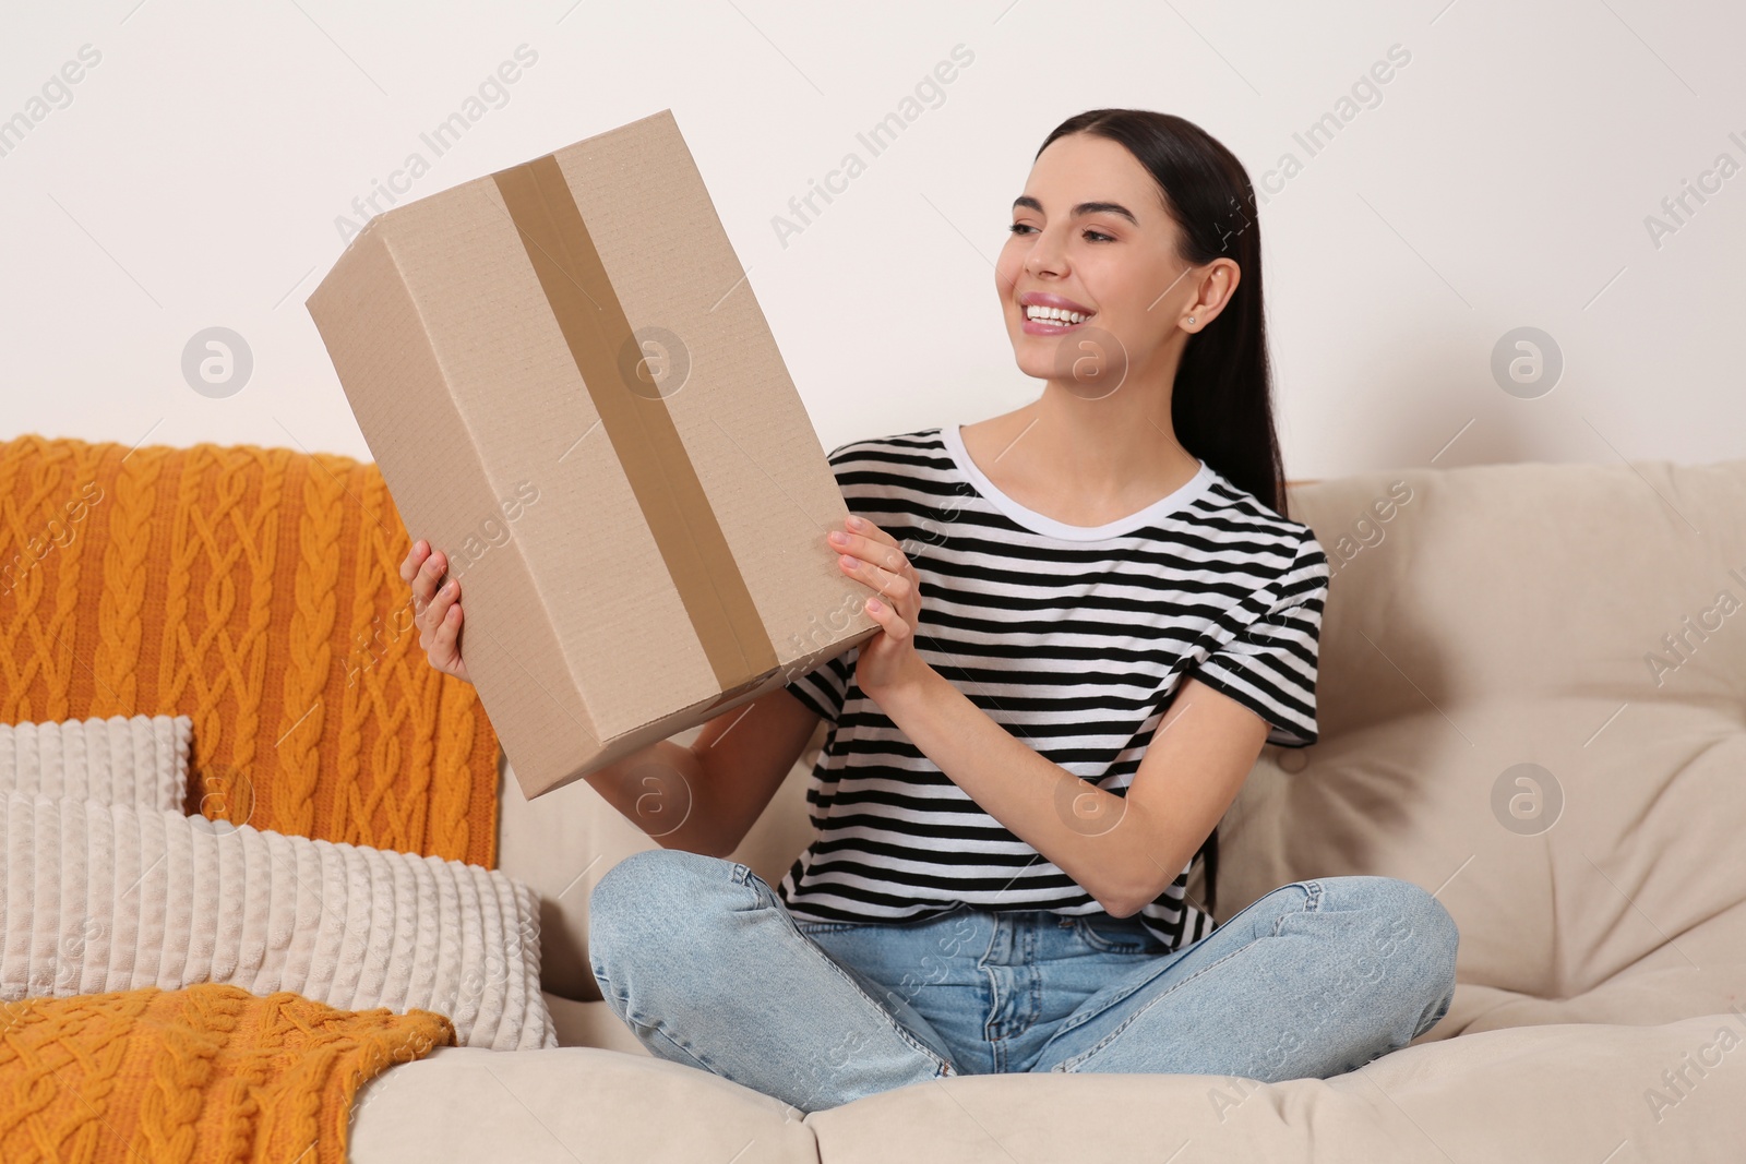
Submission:
M 1461 930 L 1435 1038 L 1722 1010 L 1746 981 L 1746 461 L 1290 501 L 1336 567 L 1322 738 L 1266 749 L 1226 815 L 1222 913 L 1348 873 L 1435 892 Z

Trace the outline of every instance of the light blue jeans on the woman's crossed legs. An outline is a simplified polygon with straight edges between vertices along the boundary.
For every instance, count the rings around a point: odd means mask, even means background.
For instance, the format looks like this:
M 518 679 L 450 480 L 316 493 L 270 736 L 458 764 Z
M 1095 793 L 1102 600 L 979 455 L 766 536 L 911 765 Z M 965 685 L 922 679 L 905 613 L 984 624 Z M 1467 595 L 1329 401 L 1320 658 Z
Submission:
M 1172 953 L 1138 916 L 807 921 L 747 866 L 669 848 L 588 900 L 594 976 L 651 1054 L 801 1112 L 997 1072 L 1339 1075 L 1447 1014 L 1456 941 L 1383 876 L 1283 885 Z

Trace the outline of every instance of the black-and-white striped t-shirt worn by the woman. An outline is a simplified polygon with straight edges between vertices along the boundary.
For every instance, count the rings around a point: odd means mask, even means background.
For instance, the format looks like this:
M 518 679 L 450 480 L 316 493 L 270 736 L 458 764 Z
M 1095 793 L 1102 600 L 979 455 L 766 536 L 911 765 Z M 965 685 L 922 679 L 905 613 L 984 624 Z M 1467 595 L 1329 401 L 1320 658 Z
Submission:
M 829 462 L 849 510 L 896 537 L 920 576 L 920 656 L 1067 771 L 1124 794 L 1184 675 L 1266 719 L 1269 743 L 1315 743 L 1327 557 L 1308 525 L 1205 462 L 1096 527 L 1007 497 L 957 426 L 852 442 Z M 863 695 L 859 653 L 786 688 L 831 724 L 807 789 L 814 839 L 777 888 L 789 911 L 904 921 L 966 902 L 1102 914 Z M 1170 949 L 1215 925 L 1186 900 L 1193 864 L 1137 914 Z

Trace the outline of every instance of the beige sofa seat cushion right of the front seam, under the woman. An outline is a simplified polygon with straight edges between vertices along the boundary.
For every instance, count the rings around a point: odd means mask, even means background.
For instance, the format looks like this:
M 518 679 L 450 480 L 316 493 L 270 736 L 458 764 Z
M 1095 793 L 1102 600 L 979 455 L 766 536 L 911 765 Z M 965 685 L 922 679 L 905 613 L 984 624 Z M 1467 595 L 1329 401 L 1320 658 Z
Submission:
M 1406 1047 L 1329 1080 L 1282 1084 L 969 1075 L 814 1112 L 807 1126 L 829 1164 L 1722 1161 L 1737 1159 L 1743 1031 L 1739 1014 L 1488 1031 Z M 1708 1065 L 1702 1075 L 1694 1059 Z M 1687 1082 L 1669 1087 L 1662 1072 L 1681 1068 Z

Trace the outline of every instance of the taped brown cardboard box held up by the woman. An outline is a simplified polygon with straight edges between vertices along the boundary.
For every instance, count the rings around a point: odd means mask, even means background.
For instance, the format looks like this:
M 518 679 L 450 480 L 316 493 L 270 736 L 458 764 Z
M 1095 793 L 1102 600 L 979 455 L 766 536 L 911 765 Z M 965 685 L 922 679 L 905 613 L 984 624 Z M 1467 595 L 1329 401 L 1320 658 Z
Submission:
M 377 215 L 307 307 L 407 529 L 461 578 L 461 656 L 527 796 L 878 632 L 669 110 Z

